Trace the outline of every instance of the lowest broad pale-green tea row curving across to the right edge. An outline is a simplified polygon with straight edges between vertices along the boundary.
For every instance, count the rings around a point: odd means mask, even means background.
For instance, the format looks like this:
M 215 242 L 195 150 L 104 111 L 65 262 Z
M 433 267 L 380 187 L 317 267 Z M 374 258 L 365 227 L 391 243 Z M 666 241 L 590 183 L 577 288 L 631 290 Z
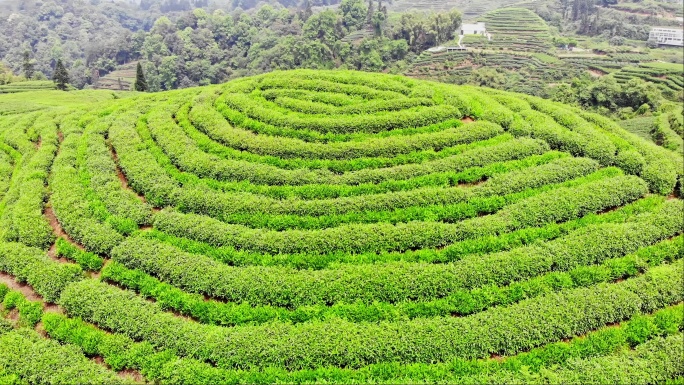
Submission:
M 221 368 L 360 368 L 516 354 L 587 333 L 650 311 L 652 303 L 663 307 L 682 301 L 681 273 L 681 267 L 654 268 L 621 283 L 548 294 L 468 317 L 400 323 L 334 320 L 221 328 L 164 313 L 133 293 L 93 280 L 70 285 L 60 304 L 71 316 Z

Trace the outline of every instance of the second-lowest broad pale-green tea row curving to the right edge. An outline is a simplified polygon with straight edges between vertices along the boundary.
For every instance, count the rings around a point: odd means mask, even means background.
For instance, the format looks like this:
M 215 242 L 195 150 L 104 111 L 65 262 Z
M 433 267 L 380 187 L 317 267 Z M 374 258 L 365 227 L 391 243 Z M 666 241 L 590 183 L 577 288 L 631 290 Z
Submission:
M 318 271 L 235 268 L 144 238 L 124 241 L 112 258 L 189 292 L 253 305 L 295 308 L 354 301 L 426 301 L 459 289 L 508 285 L 552 270 L 567 271 L 624 256 L 681 231 L 681 210 L 681 204 L 670 204 L 639 222 L 590 226 L 547 244 L 453 264 L 341 265 Z

